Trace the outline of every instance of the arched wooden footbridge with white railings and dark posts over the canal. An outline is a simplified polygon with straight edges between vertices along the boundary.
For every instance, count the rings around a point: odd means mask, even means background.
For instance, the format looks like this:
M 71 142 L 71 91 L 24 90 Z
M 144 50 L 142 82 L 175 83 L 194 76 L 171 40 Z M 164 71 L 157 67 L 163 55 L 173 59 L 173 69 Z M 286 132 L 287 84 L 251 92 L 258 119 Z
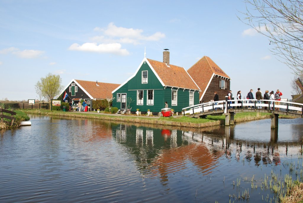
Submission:
M 239 103 L 238 103 L 239 101 Z M 268 101 L 268 104 L 258 103 Z M 230 103 L 231 102 L 231 103 Z M 272 103 L 271 103 L 272 102 Z M 205 118 L 207 115 L 225 115 L 225 125 L 234 125 L 234 116 L 237 112 L 263 112 L 271 113 L 271 128 L 278 127 L 278 116 L 289 115 L 292 117 L 303 117 L 303 104 L 275 100 L 221 100 L 215 102 L 201 103 L 182 109 L 182 114 L 192 118 Z M 267 109 L 265 109 L 265 107 Z M 261 108 L 261 109 L 260 109 Z

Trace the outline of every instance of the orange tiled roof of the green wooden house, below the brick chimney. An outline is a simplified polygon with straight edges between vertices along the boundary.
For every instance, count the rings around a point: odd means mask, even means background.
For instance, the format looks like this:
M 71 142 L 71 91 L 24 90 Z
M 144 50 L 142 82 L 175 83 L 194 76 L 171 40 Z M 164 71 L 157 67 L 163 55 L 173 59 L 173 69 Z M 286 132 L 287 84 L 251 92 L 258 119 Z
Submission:
M 171 64 L 169 64 L 168 67 L 163 62 L 151 59 L 147 60 L 156 71 L 165 86 L 199 90 L 199 87 L 191 79 L 184 68 Z

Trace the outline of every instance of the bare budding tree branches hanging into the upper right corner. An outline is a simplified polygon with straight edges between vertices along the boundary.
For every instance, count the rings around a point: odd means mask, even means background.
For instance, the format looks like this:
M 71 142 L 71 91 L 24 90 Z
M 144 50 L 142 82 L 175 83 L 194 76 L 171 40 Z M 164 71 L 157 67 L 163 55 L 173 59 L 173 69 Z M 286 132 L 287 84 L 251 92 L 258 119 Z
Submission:
M 303 71 L 303 2 L 299 0 L 244 0 L 238 18 L 269 38 L 271 51 L 298 75 Z

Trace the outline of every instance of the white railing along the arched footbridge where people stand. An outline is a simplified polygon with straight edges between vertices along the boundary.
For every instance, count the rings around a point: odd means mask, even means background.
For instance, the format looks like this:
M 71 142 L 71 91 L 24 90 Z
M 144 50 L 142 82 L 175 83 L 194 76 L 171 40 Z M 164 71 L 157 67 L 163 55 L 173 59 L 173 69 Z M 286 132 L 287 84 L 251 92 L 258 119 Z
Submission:
M 239 101 L 239 103 L 238 103 Z M 261 103 L 258 103 L 260 102 Z M 230 103 L 231 102 L 231 103 Z M 268 102 L 268 104 L 264 103 Z M 280 102 L 279 105 L 275 104 L 275 102 Z M 189 106 L 182 109 L 182 114 L 186 115 L 189 113 L 190 115 L 195 113 L 204 113 L 208 111 L 214 111 L 216 110 L 224 110 L 224 113 L 228 113 L 229 108 L 240 108 L 240 109 L 246 109 L 246 108 L 254 108 L 258 109 L 258 107 L 262 107 L 262 109 L 265 109 L 267 107 L 267 110 L 275 110 L 275 108 L 279 108 L 281 111 L 300 111 L 303 115 L 302 108 L 303 104 L 301 103 L 294 103 L 294 102 L 287 102 L 287 101 L 276 101 L 276 100 L 221 100 L 221 101 L 212 101 L 212 102 L 206 102 L 197 104 L 194 106 Z

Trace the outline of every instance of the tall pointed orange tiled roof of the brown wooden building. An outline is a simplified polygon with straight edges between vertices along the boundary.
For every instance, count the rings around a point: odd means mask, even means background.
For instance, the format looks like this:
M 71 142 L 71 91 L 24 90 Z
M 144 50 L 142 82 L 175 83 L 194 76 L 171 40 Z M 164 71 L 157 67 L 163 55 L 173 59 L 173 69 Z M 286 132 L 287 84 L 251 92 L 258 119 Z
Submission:
M 187 70 L 192 79 L 200 87 L 200 98 L 205 91 L 213 74 L 230 78 L 211 58 L 203 56 L 197 63 Z

